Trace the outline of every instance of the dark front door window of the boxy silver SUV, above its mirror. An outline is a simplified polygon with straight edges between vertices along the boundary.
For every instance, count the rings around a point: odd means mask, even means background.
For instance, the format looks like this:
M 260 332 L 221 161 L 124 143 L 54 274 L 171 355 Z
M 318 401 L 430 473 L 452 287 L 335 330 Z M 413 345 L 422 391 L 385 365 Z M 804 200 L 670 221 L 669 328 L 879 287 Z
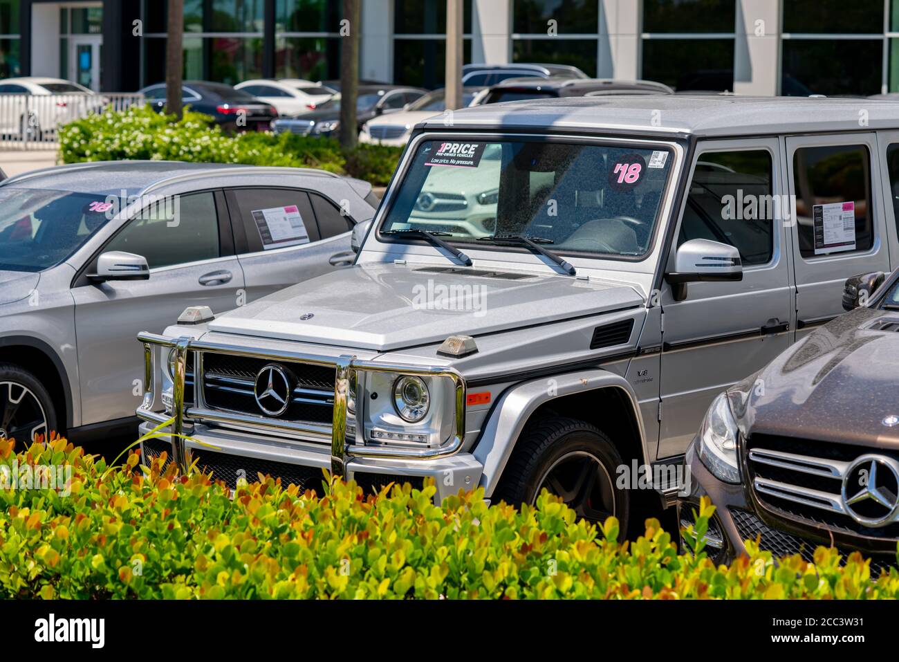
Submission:
M 734 246 L 743 264 L 770 262 L 778 216 L 771 165 L 765 149 L 700 154 L 678 246 L 690 239 L 711 239 Z

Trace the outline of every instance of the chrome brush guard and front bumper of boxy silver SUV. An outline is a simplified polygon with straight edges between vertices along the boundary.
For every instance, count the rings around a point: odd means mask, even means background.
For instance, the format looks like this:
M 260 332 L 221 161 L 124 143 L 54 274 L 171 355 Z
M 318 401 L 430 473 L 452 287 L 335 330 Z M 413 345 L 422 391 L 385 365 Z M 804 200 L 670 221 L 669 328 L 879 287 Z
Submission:
M 435 479 L 438 486 L 436 498 L 458 493 L 459 489 L 476 488 L 483 467 L 469 453 L 460 452 L 465 437 L 466 385 L 458 371 L 451 368 L 423 367 L 416 365 L 382 363 L 358 360 L 342 354 L 324 357 L 317 354 L 248 349 L 233 344 L 209 343 L 189 336 L 168 338 L 163 335 L 141 333 L 138 339 L 144 346 L 143 402 L 138 407 L 142 436 L 157 429 L 167 431 L 171 442 L 164 445 L 154 440 L 143 444 L 144 457 L 169 450 L 172 461 L 186 468 L 192 459 L 200 459 L 200 468 L 216 470 L 234 487 L 242 469 L 238 458 L 246 458 L 244 478 L 254 480 L 257 473 L 271 474 L 289 479 L 296 476 L 300 483 L 331 470 L 346 479 L 353 476 L 388 475 L 407 477 L 421 482 L 426 477 Z M 156 353 L 171 350 L 174 354 L 174 387 L 172 392 L 173 416 L 154 411 L 159 385 L 156 384 Z M 332 424 L 290 423 L 261 416 L 247 416 L 235 412 L 185 406 L 185 383 L 188 353 L 222 353 L 251 356 L 268 361 L 296 361 L 334 368 L 334 397 Z M 435 447 L 395 447 L 377 443 L 369 444 L 363 425 L 348 426 L 348 399 L 350 384 L 359 383 L 354 375 L 361 372 L 402 372 L 421 376 L 441 376 L 452 380 L 455 400 L 453 434 L 447 443 Z M 195 382 L 201 383 L 200 373 Z M 196 390 L 200 393 L 202 388 Z M 355 397 L 360 398 L 360 393 Z M 197 400 L 201 402 L 202 398 Z M 165 428 L 161 427 L 165 426 Z M 285 432 L 289 433 L 285 435 Z M 167 449 L 165 447 L 167 444 Z M 211 446 L 211 448 L 210 448 Z M 196 456 L 193 458 L 192 456 Z M 256 467 L 250 471 L 249 465 Z M 222 469 L 230 467 L 230 470 Z M 231 470 L 234 470 L 232 475 Z M 311 473 L 310 473 L 311 472 Z M 359 482 L 359 480 L 357 480 Z M 387 481 L 389 482 L 389 481 Z

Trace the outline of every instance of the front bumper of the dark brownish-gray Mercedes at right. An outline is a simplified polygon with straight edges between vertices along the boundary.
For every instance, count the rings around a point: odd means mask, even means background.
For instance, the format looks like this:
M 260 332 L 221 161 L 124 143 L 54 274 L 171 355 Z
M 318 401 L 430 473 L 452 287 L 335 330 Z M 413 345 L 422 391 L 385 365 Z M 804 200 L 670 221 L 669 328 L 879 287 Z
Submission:
M 717 479 L 699 460 L 696 452 L 698 443 L 699 440 L 693 440 L 684 458 L 689 470 L 690 493 L 678 499 L 678 522 L 681 526 L 692 523 L 693 511 L 699 510 L 699 499 L 708 497 L 711 500 L 716 508 L 709 522 L 709 531 L 713 537 L 719 537 L 721 544 L 717 547 L 709 544 L 707 550 L 716 563 L 730 564 L 737 557 L 746 555 L 743 541 L 758 541 L 759 548 L 770 551 L 775 559 L 798 554 L 809 563 L 814 562 L 814 550 L 819 545 L 830 545 L 829 541 L 806 538 L 796 531 L 787 531 L 763 521 L 755 505 L 747 499 L 743 485 L 732 485 Z M 853 547 L 839 541 L 837 547 L 844 559 L 854 551 Z M 864 556 L 871 559 L 874 575 L 895 565 L 895 554 L 864 553 Z

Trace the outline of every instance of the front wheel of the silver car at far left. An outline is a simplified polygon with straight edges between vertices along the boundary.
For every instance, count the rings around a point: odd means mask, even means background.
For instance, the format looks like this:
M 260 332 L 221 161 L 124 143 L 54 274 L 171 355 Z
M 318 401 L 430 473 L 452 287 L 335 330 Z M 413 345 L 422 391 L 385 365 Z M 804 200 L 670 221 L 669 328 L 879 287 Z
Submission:
M 49 441 L 58 432 L 57 410 L 48 390 L 31 372 L 0 363 L 0 437 L 30 444 L 35 434 Z

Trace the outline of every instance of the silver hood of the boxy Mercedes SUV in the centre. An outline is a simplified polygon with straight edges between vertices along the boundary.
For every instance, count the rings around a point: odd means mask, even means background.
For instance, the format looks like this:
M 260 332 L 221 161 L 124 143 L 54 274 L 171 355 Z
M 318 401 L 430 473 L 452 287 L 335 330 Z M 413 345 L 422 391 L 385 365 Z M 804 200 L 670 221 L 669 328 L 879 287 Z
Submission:
M 424 264 L 358 265 L 232 310 L 210 322 L 209 330 L 387 351 L 644 302 L 635 289 L 618 283 L 548 273 L 489 274 L 494 272 Z

